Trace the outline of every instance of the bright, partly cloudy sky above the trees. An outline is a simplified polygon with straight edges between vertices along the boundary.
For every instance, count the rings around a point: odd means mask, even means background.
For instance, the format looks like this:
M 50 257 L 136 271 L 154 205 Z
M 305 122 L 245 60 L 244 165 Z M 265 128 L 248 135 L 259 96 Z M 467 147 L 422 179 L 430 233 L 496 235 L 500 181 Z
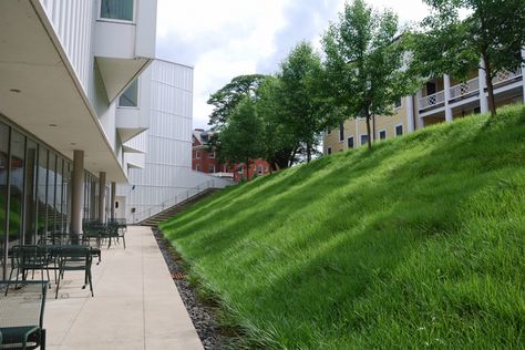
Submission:
M 422 0 L 369 0 L 401 23 L 423 19 Z M 194 68 L 193 127 L 208 128 L 209 95 L 241 74 L 270 74 L 300 41 L 319 40 L 344 0 L 157 0 L 157 56 Z

